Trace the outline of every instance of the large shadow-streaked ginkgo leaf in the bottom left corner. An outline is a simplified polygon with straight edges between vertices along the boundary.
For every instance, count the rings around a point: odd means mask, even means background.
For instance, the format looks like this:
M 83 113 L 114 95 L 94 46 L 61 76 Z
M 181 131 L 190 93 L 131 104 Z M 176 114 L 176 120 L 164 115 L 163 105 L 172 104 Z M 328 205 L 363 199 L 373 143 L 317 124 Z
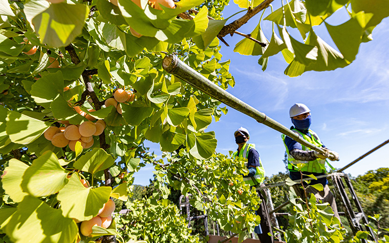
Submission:
M 17 206 L 5 228 L 6 234 L 15 243 L 75 242 L 78 227 L 76 222 L 62 216 L 60 209 L 53 209 L 38 198 L 27 195 Z

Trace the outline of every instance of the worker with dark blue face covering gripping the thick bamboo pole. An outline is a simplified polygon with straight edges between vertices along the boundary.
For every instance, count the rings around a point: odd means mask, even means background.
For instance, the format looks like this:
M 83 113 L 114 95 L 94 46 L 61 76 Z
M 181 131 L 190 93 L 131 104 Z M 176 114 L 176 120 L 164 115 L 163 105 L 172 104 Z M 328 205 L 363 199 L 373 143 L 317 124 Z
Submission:
M 309 129 L 311 125 L 311 113 L 310 109 L 305 104 L 296 103 L 289 110 L 289 116 L 292 119 L 292 126 L 290 129 L 296 132 L 301 138 L 310 142 L 317 147 L 321 147 L 325 150 L 325 153 L 320 153 L 315 150 L 312 150 L 305 145 L 292 140 L 291 138 L 282 135 L 286 151 L 288 154 L 288 170 L 290 178 L 295 180 L 301 180 L 301 173 L 295 164 L 304 163 L 306 166 L 301 168 L 301 172 L 304 174 L 303 179 L 309 178 L 307 174 L 312 174 L 314 176 L 326 175 L 325 163 L 326 159 L 331 161 L 338 161 L 339 154 L 337 152 L 331 151 L 320 141 L 317 134 Z M 328 162 L 327 162 L 328 163 Z M 333 168 L 329 163 L 328 165 Z M 317 180 L 312 180 L 309 185 L 321 184 L 323 185 L 323 190 L 318 191 L 313 187 L 307 188 L 307 193 L 310 195 L 313 193 L 316 197 L 316 202 L 319 201 L 327 202 L 330 204 L 332 210 L 334 211 L 334 216 L 339 218 L 338 209 L 336 207 L 335 198 L 332 194 L 330 188 L 328 187 L 327 177 L 317 178 Z M 304 182 L 305 187 L 308 185 Z M 304 195 L 301 191 L 296 191 L 300 196 Z M 302 194 L 302 195 L 301 195 Z M 340 218 L 339 218 L 340 220 Z

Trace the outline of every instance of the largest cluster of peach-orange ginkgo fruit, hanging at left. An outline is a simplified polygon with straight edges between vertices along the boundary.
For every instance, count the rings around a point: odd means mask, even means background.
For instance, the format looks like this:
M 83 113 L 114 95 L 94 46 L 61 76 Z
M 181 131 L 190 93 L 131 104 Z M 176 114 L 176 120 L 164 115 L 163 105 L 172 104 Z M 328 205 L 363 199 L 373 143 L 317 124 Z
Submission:
M 70 150 L 75 151 L 77 142 L 81 143 L 82 148 L 90 148 L 94 143 L 93 136 L 99 136 L 105 129 L 105 122 L 97 120 L 96 122 L 84 121 L 79 125 L 72 125 L 69 121 L 59 121 L 64 126 L 50 126 L 44 133 L 47 140 L 59 148 L 69 145 Z

